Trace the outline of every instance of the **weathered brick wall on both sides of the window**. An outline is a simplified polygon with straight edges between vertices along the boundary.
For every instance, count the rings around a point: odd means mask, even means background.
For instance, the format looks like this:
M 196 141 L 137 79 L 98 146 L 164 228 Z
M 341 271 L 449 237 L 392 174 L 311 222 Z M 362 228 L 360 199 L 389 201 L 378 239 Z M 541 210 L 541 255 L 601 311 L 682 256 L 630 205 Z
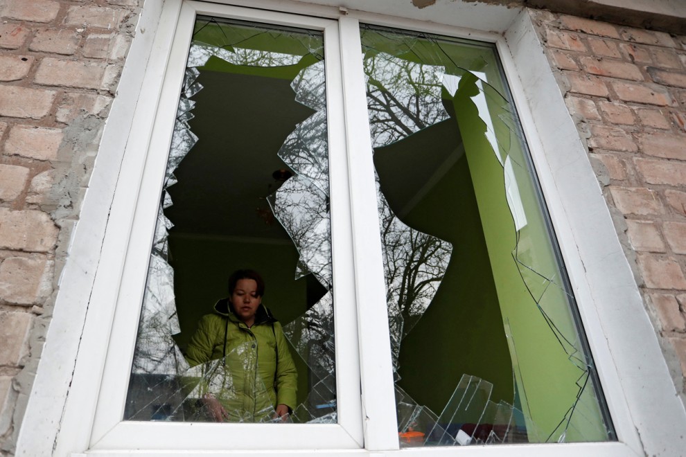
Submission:
M 0 454 L 143 0 L 0 0 Z M 686 373 L 686 37 L 531 10 L 675 382 Z

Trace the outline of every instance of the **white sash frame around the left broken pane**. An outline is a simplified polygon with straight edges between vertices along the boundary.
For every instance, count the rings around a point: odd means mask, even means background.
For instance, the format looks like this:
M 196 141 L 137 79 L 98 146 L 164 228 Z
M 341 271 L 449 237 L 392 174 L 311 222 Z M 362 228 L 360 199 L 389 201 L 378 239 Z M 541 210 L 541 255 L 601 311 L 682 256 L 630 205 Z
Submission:
M 170 10 L 174 8 L 169 7 Z M 168 13 L 171 14 L 171 13 Z M 268 24 L 321 30 L 326 55 L 328 144 L 331 168 L 331 217 L 337 366 L 337 424 L 217 424 L 123 421 L 131 360 L 141 312 L 150 244 L 155 231 L 155 214 L 164 179 L 167 154 L 175 122 L 188 48 L 196 15 L 231 17 Z M 331 19 L 299 17 L 279 12 L 246 10 L 211 3 L 181 3 L 177 28 L 168 58 L 167 71 L 157 105 L 139 198 L 130 228 L 125 269 L 116 301 L 112 336 L 107 350 L 105 373 L 89 441 L 90 449 L 299 449 L 307 442 L 316 448 L 355 449 L 362 447 L 360 375 L 357 364 L 357 332 L 351 271 L 350 216 L 346 205 L 346 152 L 343 93 L 340 81 L 338 24 Z M 192 154 L 192 152 L 191 152 Z M 338 196 L 341 197 L 338 197 Z M 334 203 L 335 201 L 335 203 Z M 270 440 L 264 440 L 264 436 Z

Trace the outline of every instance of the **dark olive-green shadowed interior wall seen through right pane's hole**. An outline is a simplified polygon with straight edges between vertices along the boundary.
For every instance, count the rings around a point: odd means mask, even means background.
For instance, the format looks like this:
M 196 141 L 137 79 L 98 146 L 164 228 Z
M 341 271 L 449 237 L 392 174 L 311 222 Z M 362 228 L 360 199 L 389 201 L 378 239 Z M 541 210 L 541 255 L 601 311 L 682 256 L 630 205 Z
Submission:
M 513 402 L 512 365 L 467 161 L 450 168 L 403 222 L 452 243 L 446 275 L 400 352 L 398 383 L 440 414 L 461 375 L 491 382 Z

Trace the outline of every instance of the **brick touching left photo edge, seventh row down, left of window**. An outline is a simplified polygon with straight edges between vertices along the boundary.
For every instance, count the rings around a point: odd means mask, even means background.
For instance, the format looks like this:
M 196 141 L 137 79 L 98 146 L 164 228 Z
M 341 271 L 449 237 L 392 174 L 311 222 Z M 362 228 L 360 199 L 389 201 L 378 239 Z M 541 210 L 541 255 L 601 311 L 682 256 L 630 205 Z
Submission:
M 55 247 L 57 235 L 57 226 L 42 211 L 0 208 L 1 249 L 48 252 Z

